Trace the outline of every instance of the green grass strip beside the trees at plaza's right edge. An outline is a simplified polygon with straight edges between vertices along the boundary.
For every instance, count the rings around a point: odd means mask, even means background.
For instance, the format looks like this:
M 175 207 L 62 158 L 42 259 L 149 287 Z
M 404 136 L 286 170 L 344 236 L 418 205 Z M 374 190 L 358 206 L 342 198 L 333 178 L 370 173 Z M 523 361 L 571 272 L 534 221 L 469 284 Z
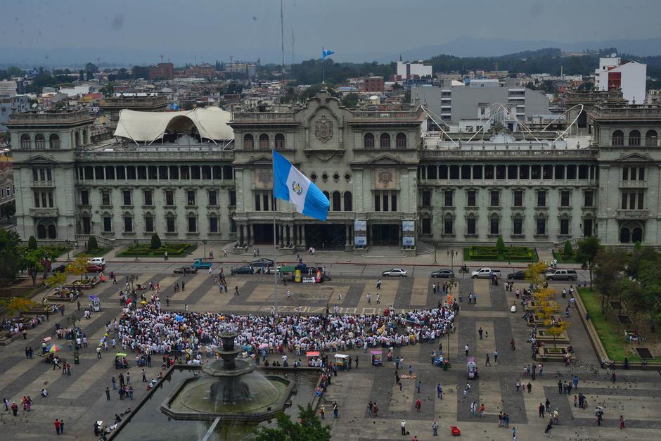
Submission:
M 624 339 L 624 326 L 613 319 L 606 319 L 601 313 L 601 298 L 596 295 L 596 291 L 590 288 L 578 288 L 579 295 L 586 311 L 590 314 L 590 320 L 596 329 L 599 340 L 603 345 L 608 358 L 615 360 L 615 362 L 623 362 L 625 354 L 629 358 L 629 362 L 640 362 L 641 357 L 638 354 L 626 353 L 627 348 L 634 350 L 634 347 L 645 347 L 645 342 L 632 344 Z M 661 362 L 661 357 L 656 357 L 654 360 L 648 362 Z

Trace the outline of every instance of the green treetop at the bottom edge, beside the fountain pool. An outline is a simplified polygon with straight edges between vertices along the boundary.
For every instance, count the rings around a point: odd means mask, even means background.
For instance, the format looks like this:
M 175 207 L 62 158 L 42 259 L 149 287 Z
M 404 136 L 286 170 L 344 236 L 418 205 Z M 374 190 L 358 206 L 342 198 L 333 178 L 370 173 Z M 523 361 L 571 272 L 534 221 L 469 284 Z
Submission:
M 294 423 L 291 416 L 278 414 L 275 428 L 255 429 L 255 441 L 328 441 L 331 440 L 331 426 L 322 426 L 316 412 L 308 404 L 298 407 L 300 423 Z

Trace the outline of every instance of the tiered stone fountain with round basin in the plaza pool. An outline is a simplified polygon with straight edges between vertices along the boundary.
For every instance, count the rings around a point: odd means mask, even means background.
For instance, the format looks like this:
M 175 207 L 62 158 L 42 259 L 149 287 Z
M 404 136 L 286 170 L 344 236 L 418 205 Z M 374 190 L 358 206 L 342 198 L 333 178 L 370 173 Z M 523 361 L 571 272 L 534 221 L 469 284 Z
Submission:
M 259 422 L 283 411 L 295 383 L 255 371 L 252 359 L 238 359 L 237 333 L 222 333 L 218 359 L 204 364 L 205 376 L 186 378 L 161 405 L 174 419 Z

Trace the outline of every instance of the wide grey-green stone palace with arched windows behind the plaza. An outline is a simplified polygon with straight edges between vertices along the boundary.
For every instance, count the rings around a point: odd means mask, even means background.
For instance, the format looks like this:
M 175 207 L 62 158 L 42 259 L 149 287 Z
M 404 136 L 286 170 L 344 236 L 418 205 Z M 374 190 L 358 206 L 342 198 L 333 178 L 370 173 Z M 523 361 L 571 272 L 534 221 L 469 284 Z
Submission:
M 629 106 L 619 92 L 568 94 L 567 124 L 553 130 L 501 115 L 432 132 L 421 103 L 344 108 L 326 91 L 263 112 L 132 104 L 113 118 L 111 139 L 96 136 L 86 111 L 11 115 L 23 239 L 128 243 L 157 232 L 241 248 L 273 243 L 275 220 L 278 243 L 292 249 L 413 254 L 418 241 L 497 236 L 661 245 L 661 108 Z M 272 149 L 328 196 L 327 222 L 272 198 Z

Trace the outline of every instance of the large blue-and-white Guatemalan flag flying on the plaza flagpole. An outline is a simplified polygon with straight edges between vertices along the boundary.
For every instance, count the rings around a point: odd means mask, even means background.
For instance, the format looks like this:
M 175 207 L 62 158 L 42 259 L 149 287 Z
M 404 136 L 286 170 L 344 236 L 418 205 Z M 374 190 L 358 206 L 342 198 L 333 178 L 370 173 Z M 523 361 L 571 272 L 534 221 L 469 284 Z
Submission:
M 273 181 L 276 198 L 293 203 L 296 211 L 302 215 L 326 220 L 330 206 L 328 198 L 300 170 L 291 165 L 291 162 L 275 151 Z

